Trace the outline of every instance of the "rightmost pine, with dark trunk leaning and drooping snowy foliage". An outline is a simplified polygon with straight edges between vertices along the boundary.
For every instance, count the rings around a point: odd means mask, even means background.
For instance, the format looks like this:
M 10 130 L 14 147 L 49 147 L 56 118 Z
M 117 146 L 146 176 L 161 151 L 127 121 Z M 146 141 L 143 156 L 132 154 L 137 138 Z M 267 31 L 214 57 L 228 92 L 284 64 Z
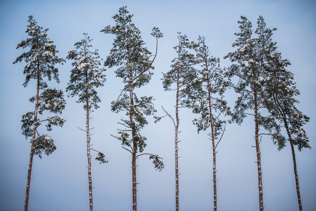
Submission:
M 290 62 L 282 59 L 281 52 L 276 51 L 276 43 L 271 45 L 267 58 L 270 60 L 269 65 L 271 71 L 269 72 L 269 80 L 267 82 L 266 104 L 269 113 L 276 118 L 282 127 L 285 128 L 288 142 L 290 142 L 293 169 L 296 182 L 296 193 L 298 199 L 299 210 L 303 210 L 301 196 L 299 191 L 299 181 L 296 167 L 296 157 L 294 145 L 300 151 L 302 148 L 310 148 L 308 137 L 303 129 L 309 118 L 299 111 L 295 104 L 298 103 L 294 97 L 299 95 L 300 92 L 295 86 L 294 76 L 286 67 Z M 279 146 L 281 149 L 283 146 Z

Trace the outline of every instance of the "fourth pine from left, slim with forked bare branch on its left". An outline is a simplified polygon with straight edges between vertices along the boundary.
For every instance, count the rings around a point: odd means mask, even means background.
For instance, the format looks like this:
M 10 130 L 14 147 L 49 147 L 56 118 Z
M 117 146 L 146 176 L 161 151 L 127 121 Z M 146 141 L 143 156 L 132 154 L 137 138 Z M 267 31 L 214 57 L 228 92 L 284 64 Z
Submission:
M 191 81 L 196 77 L 196 72 L 193 68 L 194 56 L 189 53 L 189 40 L 186 35 L 181 35 L 178 32 L 179 43 L 174 47 L 177 57 L 172 60 L 171 70 L 164 74 L 163 86 L 166 91 L 176 91 L 175 99 L 175 118 L 172 117 L 164 108 L 166 113 L 163 117 L 155 117 L 155 122 L 160 121 L 162 118 L 168 116 L 171 118 L 175 128 L 175 183 L 176 183 L 176 211 L 179 211 L 179 165 L 178 165 L 178 143 L 180 119 L 179 109 L 187 105 L 187 97 L 191 91 Z M 173 87 L 174 85 L 174 87 Z

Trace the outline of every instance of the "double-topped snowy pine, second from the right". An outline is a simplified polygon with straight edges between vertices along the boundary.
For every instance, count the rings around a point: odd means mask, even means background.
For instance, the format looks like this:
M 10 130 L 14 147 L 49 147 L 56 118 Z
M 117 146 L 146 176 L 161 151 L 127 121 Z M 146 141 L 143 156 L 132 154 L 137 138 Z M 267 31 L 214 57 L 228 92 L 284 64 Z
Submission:
M 261 151 L 259 147 L 259 137 L 261 135 L 271 135 L 273 141 L 278 143 L 279 147 L 283 147 L 285 139 L 281 135 L 280 125 L 277 120 L 271 116 L 263 116 L 260 111 L 267 108 L 265 102 L 267 80 L 269 78 L 269 59 L 267 52 L 274 44 L 272 42 L 272 34 L 275 28 L 266 28 L 264 19 L 260 16 L 257 21 L 255 34 L 252 37 L 252 25 L 246 17 L 241 16 L 240 32 L 235 33 L 237 36 L 233 47 L 237 50 L 229 52 L 224 58 L 230 58 L 231 62 L 235 62 L 227 69 L 227 76 L 237 76 L 239 81 L 235 84 L 234 89 L 240 94 L 235 103 L 235 112 L 232 115 L 233 120 L 238 124 L 243 122 L 247 115 L 254 117 L 255 128 L 255 148 L 257 155 L 258 169 L 258 189 L 259 189 L 259 208 L 264 210 L 264 198 L 262 190 L 262 171 L 261 171 Z M 246 113 L 246 112 L 253 113 Z M 267 110 L 264 110 L 267 111 Z M 259 133 L 260 127 L 263 127 L 269 133 Z

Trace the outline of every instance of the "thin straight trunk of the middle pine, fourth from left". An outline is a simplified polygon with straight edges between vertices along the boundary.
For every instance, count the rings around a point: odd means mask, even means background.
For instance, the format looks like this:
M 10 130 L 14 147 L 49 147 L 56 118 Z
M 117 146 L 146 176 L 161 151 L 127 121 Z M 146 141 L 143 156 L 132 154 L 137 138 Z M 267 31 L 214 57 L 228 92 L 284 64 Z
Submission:
M 176 93 L 176 127 L 175 127 L 175 168 L 176 168 L 176 211 L 179 211 L 179 166 L 178 166 L 178 129 L 179 129 L 179 71 Z

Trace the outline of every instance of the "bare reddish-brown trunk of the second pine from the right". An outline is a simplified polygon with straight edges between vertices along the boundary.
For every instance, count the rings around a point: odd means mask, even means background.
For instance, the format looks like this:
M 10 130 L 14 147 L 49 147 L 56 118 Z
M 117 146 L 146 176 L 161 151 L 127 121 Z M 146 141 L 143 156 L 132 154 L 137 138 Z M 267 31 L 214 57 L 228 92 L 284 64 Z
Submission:
M 261 172 L 261 155 L 259 146 L 259 127 L 258 127 L 258 105 L 257 105 L 257 90 L 254 87 L 254 124 L 255 124 L 255 148 L 257 153 L 257 168 L 258 168 L 258 186 L 259 186 L 259 208 L 264 211 L 264 192 L 262 191 L 262 172 Z

